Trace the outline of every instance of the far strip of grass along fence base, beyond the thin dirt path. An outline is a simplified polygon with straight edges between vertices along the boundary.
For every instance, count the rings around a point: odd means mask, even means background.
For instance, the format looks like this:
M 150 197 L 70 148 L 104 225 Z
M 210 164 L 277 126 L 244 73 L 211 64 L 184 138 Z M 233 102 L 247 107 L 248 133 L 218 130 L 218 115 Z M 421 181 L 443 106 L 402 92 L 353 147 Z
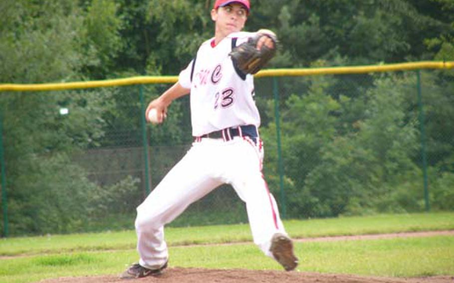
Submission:
M 133 221 L 133 220 L 131 220 Z M 393 232 L 454 230 L 454 212 L 377 215 L 284 221 L 293 238 L 384 234 Z M 166 228 L 169 246 L 251 241 L 247 224 Z M 0 256 L 35 255 L 72 251 L 134 249 L 135 232 L 103 232 L 0 239 Z

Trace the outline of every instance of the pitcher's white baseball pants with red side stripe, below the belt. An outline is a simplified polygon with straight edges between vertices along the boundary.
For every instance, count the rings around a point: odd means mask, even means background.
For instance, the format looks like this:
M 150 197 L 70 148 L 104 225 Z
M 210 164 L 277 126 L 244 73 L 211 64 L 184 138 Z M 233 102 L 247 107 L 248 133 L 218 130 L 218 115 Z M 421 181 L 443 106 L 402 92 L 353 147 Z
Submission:
M 254 243 L 269 257 L 271 237 L 285 233 L 276 201 L 261 172 L 261 143 L 248 137 L 231 141 L 201 139 L 169 171 L 145 201 L 137 207 L 135 221 L 139 264 L 149 269 L 163 266 L 168 258 L 164 225 L 190 204 L 221 184 L 232 185 L 246 203 Z

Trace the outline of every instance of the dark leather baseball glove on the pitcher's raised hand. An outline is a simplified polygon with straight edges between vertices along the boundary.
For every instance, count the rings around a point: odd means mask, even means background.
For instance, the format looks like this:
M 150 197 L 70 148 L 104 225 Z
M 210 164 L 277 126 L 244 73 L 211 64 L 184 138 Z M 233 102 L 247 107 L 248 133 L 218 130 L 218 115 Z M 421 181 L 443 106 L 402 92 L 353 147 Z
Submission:
M 262 45 L 257 50 L 257 42 L 262 36 L 267 36 L 273 41 L 274 48 Z M 246 42 L 241 43 L 229 53 L 233 64 L 244 74 L 255 74 L 268 63 L 276 54 L 277 38 L 270 33 L 256 33 L 249 37 Z

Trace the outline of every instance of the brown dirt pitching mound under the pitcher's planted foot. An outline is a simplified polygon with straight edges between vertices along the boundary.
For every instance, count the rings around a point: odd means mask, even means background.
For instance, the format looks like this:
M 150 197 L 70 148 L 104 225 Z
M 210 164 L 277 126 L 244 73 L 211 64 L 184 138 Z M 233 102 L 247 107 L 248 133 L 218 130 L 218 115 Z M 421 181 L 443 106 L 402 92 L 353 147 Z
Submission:
M 42 283 L 107 283 L 107 282 L 141 282 L 141 283 L 453 283 L 454 277 L 427 278 L 383 278 L 361 277 L 354 275 L 318 274 L 284 271 L 253 270 L 211 270 L 169 268 L 159 277 L 147 277 L 135 281 L 124 281 L 116 276 L 65 277 L 41 281 Z

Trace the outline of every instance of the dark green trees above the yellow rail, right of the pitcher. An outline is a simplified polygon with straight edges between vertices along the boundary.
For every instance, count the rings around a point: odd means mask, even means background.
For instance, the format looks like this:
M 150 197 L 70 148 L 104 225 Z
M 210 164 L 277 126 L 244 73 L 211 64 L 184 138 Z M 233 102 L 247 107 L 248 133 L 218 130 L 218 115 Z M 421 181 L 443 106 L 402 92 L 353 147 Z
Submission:
M 431 34 L 452 33 L 449 1 L 260 1 L 252 3 L 249 28 L 268 23 L 282 43 L 276 66 L 309 66 L 317 59 L 371 64 L 428 58 Z M 432 58 L 432 57 L 430 57 Z

